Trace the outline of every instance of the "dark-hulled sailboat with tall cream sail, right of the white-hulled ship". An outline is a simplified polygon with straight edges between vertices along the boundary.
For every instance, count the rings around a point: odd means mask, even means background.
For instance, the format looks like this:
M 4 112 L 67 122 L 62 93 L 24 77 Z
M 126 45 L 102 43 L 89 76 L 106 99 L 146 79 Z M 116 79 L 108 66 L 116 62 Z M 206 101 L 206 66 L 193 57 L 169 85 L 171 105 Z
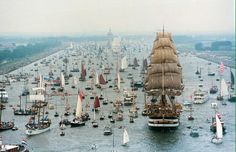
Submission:
M 77 97 L 77 107 L 75 118 L 70 122 L 71 127 L 84 126 L 85 122 L 82 120 L 82 97 L 78 95 Z

